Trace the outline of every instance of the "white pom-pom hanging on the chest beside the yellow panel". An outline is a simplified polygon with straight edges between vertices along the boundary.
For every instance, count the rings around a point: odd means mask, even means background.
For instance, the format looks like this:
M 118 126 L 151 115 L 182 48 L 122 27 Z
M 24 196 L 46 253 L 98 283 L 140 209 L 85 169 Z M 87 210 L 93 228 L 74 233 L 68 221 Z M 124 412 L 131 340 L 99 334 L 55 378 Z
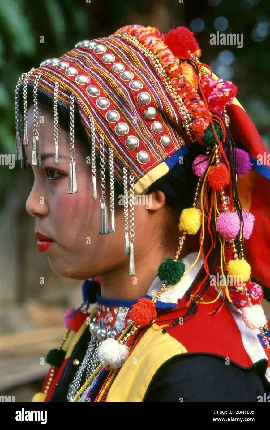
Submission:
M 119 369 L 129 356 L 129 348 L 115 339 L 106 339 L 98 347 L 98 359 L 107 369 Z

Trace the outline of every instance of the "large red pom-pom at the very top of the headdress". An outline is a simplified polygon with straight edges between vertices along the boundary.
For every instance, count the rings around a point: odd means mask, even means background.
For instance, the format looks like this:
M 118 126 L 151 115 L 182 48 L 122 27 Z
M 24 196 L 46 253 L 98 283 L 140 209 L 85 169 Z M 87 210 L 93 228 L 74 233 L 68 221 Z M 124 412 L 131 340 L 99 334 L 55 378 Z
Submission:
M 187 27 L 173 28 L 166 34 L 164 42 L 175 57 L 190 58 L 188 51 L 200 55 L 199 45 Z

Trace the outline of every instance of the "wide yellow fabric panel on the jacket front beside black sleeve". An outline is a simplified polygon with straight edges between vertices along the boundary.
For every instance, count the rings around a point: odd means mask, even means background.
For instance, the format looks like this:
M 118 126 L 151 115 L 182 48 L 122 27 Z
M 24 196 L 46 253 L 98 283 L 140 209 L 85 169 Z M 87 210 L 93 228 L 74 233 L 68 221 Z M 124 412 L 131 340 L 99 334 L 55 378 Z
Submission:
M 186 352 L 180 342 L 168 333 L 163 335 L 159 326 L 153 324 L 120 369 L 106 402 L 142 402 L 150 381 L 160 366 L 173 356 Z

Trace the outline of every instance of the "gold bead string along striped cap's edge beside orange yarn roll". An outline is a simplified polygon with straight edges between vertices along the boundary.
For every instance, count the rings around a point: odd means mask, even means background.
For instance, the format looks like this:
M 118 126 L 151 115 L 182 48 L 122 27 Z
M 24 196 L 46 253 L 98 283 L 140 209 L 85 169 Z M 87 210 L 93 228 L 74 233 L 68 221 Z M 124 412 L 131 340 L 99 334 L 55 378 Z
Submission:
M 147 58 L 149 58 L 151 64 L 156 69 L 157 73 L 160 75 L 161 79 L 163 80 L 163 83 L 169 92 L 170 96 L 175 101 L 175 104 L 179 108 L 180 116 L 182 119 L 182 122 L 184 123 L 184 129 L 185 132 L 190 139 L 190 141 L 195 142 L 193 135 L 192 135 L 192 120 L 190 117 L 190 113 L 188 109 L 186 108 L 180 94 L 175 90 L 175 88 L 172 86 L 171 80 L 169 76 L 167 75 L 166 71 L 164 70 L 164 67 L 162 65 L 162 61 L 159 57 L 157 57 L 155 54 L 153 54 L 150 49 L 146 48 L 142 43 L 138 41 L 138 39 L 135 36 L 132 36 L 131 34 L 127 33 L 121 33 L 121 34 L 113 34 L 112 37 L 123 37 L 123 39 L 126 39 L 128 42 L 135 45 L 141 52 L 143 52 Z

